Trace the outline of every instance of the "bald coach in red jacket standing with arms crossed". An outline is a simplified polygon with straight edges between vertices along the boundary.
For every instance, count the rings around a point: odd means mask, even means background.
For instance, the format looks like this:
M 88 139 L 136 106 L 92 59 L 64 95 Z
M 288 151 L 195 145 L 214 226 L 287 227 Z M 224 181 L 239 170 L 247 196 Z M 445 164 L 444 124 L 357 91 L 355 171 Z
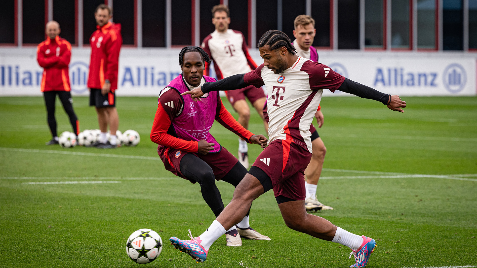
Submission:
M 70 117 L 74 134 L 78 135 L 80 131 L 80 123 L 73 110 L 70 77 L 68 75 L 71 44 L 66 39 L 58 36 L 60 31 L 60 24 L 58 22 L 49 21 L 45 27 L 48 37 L 37 47 L 37 61 L 44 68 L 43 79 L 41 79 L 41 92 L 43 92 L 43 97 L 45 98 L 48 126 L 53 136 L 52 140 L 47 142 L 46 145 L 58 144 L 55 119 L 56 94 L 58 94 L 65 112 Z

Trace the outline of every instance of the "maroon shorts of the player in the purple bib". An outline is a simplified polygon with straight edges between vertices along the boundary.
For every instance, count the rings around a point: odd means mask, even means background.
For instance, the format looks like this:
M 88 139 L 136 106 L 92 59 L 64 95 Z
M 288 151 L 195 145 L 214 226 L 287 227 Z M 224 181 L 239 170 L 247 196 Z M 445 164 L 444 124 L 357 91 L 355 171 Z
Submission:
M 184 179 L 187 178 L 180 172 L 180 161 L 186 154 L 195 155 L 206 162 L 207 165 L 212 168 L 216 180 L 219 180 L 227 175 L 230 169 L 232 169 L 232 167 L 239 162 L 239 160 L 230 154 L 224 147 L 221 147 L 220 152 L 218 153 L 208 153 L 207 155 L 188 153 L 179 149 L 164 147 L 163 150 L 158 150 L 158 152 L 159 157 L 161 158 L 162 162 L 164 162 L 164 167 L 166 170 Z M 195 183 L 195 181 L 192 182 Z

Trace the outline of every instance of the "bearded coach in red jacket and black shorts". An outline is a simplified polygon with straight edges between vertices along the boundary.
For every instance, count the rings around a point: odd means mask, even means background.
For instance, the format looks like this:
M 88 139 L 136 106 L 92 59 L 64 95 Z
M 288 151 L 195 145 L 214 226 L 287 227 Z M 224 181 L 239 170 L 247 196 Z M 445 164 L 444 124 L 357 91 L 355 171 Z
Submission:
M 99 5 L 94 12 L 98 30 L 90 37 L 91 62 L 88 77 L 90 106 L 96 107 L 101 130 L 99 141 L 93 145 L 103 149 L 116 148 L 116 130 L 119 125 L 114 91 L 117 89 L 119 52 L 123 38 L 121 24 L 109 21 L 112 16 L 113 11 L 109 6 Z M 108 124 L 111 132 L 110 141 L 106 138 Z

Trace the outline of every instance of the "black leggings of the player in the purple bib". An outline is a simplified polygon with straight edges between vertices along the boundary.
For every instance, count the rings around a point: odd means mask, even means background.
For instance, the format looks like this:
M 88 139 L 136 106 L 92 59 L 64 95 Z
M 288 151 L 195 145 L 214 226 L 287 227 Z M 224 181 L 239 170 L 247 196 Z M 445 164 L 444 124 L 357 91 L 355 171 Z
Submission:
M 202 197 L 216 217 L 224 210 L 222 197 L 215 185 L 215 175 L 212 168 L 204 160 L 193 154 L 186 154 L 180 161 L 180 172 L 189 180 L 199 183 Z M 247 169 L 237 162 L 221 180 L 237 187 L 239 182 L 247 174 Z M 247 216 L 249 215 L 247 212 Z

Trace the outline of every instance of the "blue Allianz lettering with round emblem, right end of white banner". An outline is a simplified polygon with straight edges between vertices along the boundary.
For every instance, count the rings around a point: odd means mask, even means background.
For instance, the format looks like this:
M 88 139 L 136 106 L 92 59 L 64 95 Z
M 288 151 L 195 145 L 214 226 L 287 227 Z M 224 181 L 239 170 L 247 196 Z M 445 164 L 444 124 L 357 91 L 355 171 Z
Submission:
M 467 83 L 466 70 L 462 65 L 447 65 L 439 78 L 438 72 L 406 72 L 403 67 L 376 68 L 374 86 L 384 87 L 438 87 L 439 83 L 451 93 L 458 93 Z

